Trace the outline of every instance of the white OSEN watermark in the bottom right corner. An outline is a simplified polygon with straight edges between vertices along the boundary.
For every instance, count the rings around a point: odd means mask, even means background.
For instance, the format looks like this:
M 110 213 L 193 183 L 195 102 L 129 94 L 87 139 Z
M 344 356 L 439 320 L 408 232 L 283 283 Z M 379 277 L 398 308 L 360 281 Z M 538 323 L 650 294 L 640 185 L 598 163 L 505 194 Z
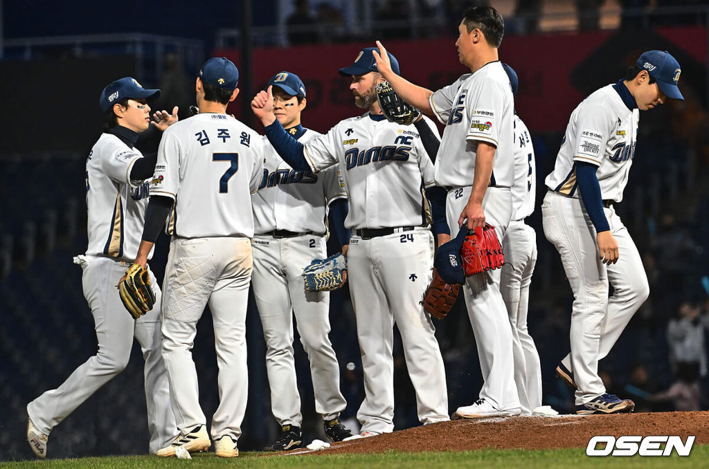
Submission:
M 679 436 L 620 436 L 617 440 L 611 435 L 596 435 L 588 441 L 586 456 L 671 456 L 674 450 L 677 456 L 689 456 L 695 437 L 687 436 L 682 441 Z M 664 448 L 661 444 L 665 443 Z

